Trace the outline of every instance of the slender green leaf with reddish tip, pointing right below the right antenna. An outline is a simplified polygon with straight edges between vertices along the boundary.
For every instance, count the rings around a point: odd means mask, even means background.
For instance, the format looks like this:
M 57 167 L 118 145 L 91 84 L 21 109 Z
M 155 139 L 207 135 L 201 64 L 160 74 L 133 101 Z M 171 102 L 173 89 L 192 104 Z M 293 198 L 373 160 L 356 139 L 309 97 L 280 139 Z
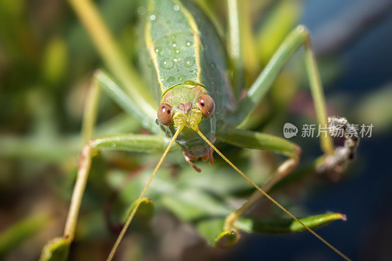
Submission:
M 345 215 L 339 213 L 327 213 L 299 218 L 302 223 L 311 229 L 319 228 L 338 219 L 346 220 L 346 217 Z M 306 230 L 294 219 L 261 220 L 241 217 L 236 222 L 234 222 L 234 226 L 239 230 L 245 231 L 247 233 L 270 235 L 287 234 Z

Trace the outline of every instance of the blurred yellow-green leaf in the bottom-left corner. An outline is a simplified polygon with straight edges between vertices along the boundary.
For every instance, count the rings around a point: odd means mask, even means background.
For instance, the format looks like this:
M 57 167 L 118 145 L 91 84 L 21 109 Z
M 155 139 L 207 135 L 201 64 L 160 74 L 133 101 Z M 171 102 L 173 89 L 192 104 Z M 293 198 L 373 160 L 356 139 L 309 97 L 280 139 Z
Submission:
M 42 229 L 48 219 L 47 214 L 29 216 L 2 232 L 0 234 L 0 256 Z

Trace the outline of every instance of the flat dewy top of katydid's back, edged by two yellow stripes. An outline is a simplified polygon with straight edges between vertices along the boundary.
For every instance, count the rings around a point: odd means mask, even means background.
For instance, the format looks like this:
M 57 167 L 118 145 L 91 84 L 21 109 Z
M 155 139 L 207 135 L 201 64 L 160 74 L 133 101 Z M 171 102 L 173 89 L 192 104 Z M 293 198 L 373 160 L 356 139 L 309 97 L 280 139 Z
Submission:
M 199 81 L 196 23 L 179 2 L 151 0 L 148 11 L 145 41 L 161 92 L 186 80 Z

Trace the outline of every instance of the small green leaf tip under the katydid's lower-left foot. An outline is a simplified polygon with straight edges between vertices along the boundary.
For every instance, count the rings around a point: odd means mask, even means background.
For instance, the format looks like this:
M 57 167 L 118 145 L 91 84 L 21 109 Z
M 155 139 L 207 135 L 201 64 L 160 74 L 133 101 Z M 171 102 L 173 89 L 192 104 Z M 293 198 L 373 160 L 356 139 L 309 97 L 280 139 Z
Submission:
M 42 249 L 40 261 L 65 261 L 70 251 L 71 242 L 64 237 L 50 240 Z

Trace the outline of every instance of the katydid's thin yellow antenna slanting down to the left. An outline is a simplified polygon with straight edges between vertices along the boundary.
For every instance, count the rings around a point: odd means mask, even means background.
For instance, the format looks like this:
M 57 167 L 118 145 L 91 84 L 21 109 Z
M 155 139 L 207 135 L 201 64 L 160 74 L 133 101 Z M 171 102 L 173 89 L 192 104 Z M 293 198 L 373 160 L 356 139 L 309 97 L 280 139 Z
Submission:
M 175 139 L 177 138 L 178 134 L 180 133 L 180 131 L 182 130 L 183 127 L 184 127 L 184 125 L 178 125 L 177 126 L 177 131 L 175 132 L 175 134 L 174 134 L 172 140 L 170 141 L 168 147 L 166 148 L 166 150 L 163 153 L 161 159 L 159 160 L 158 164 L 156 165 L 154 171 L 152 172 L 152 175 L 151 175 L 150 179 L 148 180 L 146 187 L 144 187 L 142 193 L 140 194 L 139 199 L 136 202 L 135 207 L 133 208 L 133 210 L 132 210 L 131 214 L 129 215 L 128 219 L 126 220 L 125 225 L 123 226 L 123 229 L 121 230 L 119 237 L 117 237 L 117 240 L 114 243 L 114 246 L 113 246 L 112 250 L 110 251 L 110 254 L 109 254 L 109 256 L 108 256 L 106 261 L 111 261 L 113 259 L 113 256 L 116 253 L 116 250 L 119 247 L 119 244 L 120 244 L 121 240 L 123 239 L 126 230 L 128 229 L 129 225 L 131 224 L 131 221 L 132 221 L 133 217 L 135 216 L 136 211 L 138 210 L 139 205 L 142 202 L 142 199 L 145 196 L 145 194 L 147 192 L 147 189 L 148 189 L 148 187 L 151 184 L 152 179 L 154 178 L 156 172 L 158 171 L 159 167 L 161 166 L 163 160 L 165 159 L 166 154 L 168 154 L 170 148 L 172 147 L 173 142 L 175 141 Z

